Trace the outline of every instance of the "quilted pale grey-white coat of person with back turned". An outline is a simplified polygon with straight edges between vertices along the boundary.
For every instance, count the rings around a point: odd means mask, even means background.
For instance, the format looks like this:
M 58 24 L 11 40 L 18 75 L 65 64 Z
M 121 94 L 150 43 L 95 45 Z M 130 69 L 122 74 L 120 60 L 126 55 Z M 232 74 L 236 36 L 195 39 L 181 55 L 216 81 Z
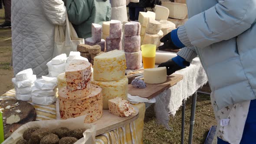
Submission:
M 12 49 L 14 75 L 32 68 L 37 77 L 48 74 L 55 25 L 66 21 L 62 0 L 12 0 Z

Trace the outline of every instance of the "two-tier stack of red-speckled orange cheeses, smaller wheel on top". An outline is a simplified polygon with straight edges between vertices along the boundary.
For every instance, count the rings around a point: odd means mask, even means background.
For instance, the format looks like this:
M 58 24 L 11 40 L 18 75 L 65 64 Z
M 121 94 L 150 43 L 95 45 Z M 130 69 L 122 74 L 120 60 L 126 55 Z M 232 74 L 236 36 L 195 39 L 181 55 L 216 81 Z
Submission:
M 91 64 L 72 60 L 58 76 L 59 111 L 62 119 L 85 117 L 85 123 L 102 117 L 102 88 L 91 84 Z

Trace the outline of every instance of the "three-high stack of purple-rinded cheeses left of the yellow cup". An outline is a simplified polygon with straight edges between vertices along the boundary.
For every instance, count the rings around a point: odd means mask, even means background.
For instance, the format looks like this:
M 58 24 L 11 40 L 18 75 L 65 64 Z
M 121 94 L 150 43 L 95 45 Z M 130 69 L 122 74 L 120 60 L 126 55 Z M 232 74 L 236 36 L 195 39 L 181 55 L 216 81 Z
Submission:
M 125 23 L 124 49 L 127 69 L 140 69 L 141 56 L 141 24 L 138 22 Z

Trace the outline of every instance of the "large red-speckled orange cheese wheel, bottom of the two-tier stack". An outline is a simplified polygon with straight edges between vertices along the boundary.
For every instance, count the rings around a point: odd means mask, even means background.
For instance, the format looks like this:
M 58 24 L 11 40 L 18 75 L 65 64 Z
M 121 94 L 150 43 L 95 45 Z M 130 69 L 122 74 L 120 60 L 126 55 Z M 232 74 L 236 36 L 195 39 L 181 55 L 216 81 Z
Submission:
M 85 123 L 90 123 L 102 117 L 103 98 L 100 87 L 92 85 L 90 95 L 74 100 L 66 99 L 65 91 L 65 87 L 59 90 L 59 112 L 62 119 L 87 115 Z

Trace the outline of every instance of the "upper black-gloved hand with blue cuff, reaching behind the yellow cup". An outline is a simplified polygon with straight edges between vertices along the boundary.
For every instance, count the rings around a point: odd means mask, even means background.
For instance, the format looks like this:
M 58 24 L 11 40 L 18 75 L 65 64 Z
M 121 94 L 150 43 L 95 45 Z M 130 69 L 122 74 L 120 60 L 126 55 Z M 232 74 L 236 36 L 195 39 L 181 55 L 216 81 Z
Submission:
M 161 43 L 164 43 L 164 45 L 159 46 L 158 49 L 181 49 L 184 46 L 183 43 L 181 43 L 180 39 L 177 35 L 177 30 L 174 29 L 170 33 L 167 33 L 164 37 L 160 39 Z

